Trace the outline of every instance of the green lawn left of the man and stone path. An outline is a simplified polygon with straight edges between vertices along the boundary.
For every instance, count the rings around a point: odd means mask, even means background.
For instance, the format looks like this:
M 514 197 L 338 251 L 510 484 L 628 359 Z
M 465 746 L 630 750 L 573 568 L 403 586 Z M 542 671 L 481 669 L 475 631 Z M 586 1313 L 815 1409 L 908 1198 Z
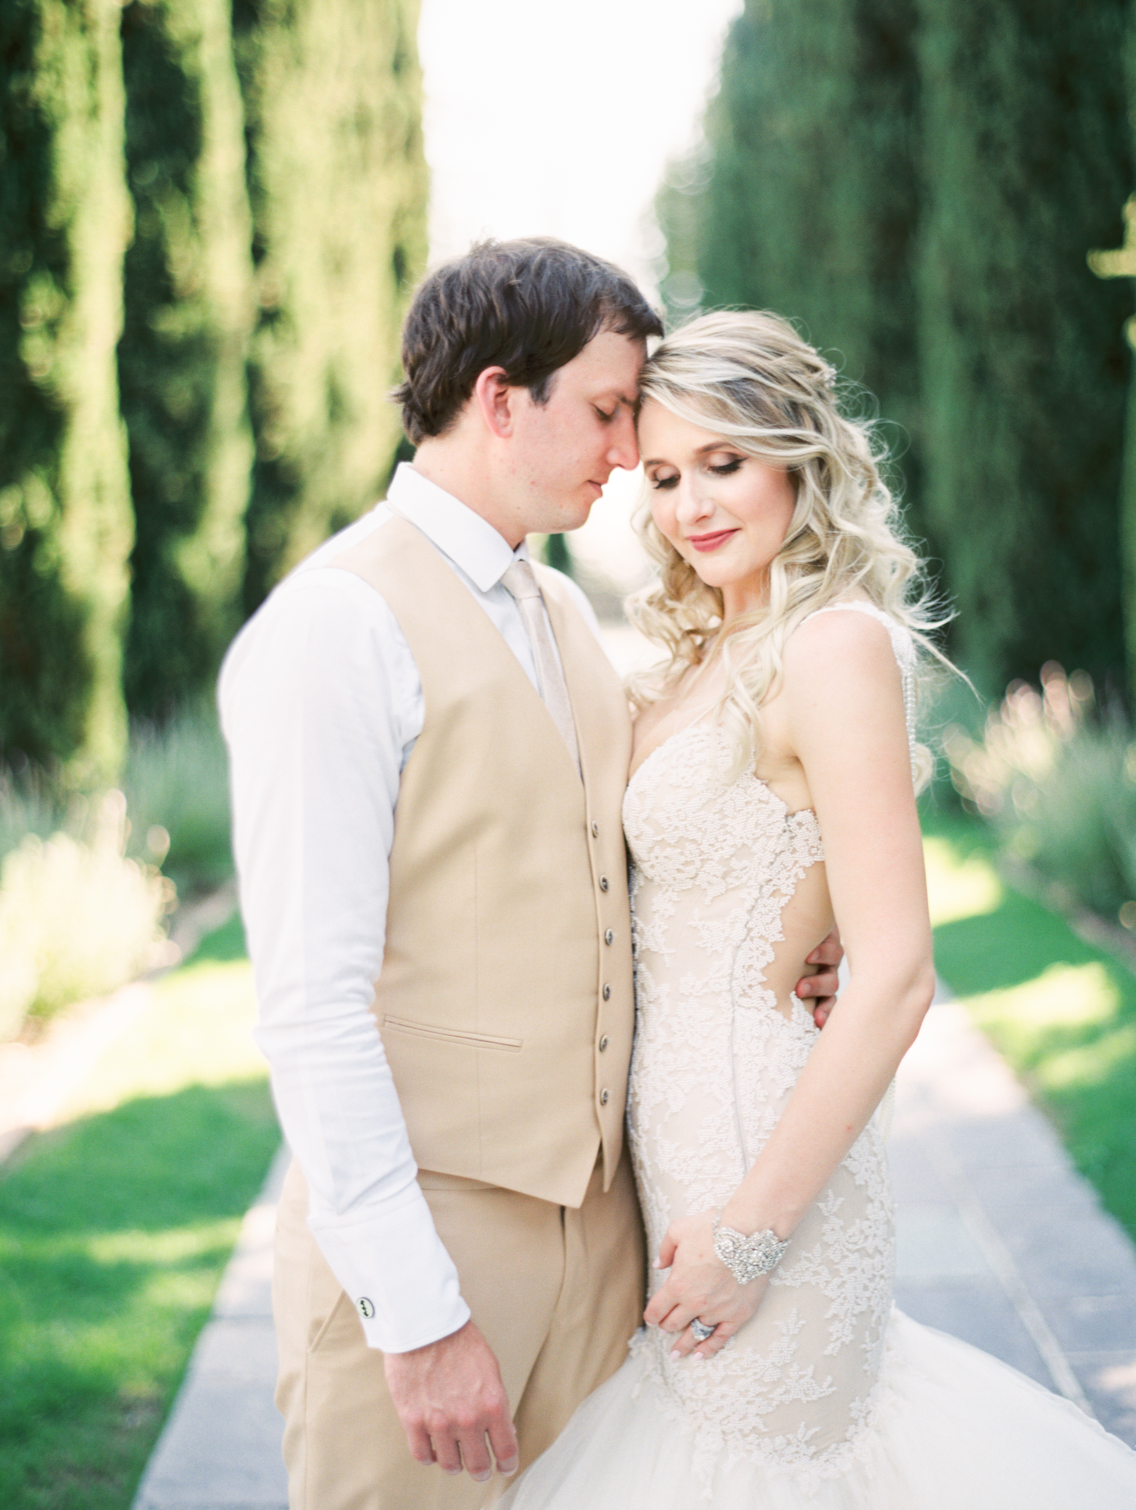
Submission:
M 234 920 L 0 1169 L 0 1505 L 127 1510 L 279 1134 Z

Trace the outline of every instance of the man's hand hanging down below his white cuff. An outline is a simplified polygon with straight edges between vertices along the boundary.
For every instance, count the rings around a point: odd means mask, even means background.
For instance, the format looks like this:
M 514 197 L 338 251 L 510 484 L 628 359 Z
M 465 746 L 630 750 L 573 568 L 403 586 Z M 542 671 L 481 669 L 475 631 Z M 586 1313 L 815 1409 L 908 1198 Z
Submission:
M 477 1483 L 492 1477 L 494 1457 L 503 1474 L 517 1472 L 509 1397 L 492 1348 L 473 1321 L 411 1353 L 384 1354 L 384 1367 L 402 1430 L 420 1463 L 437 1463 L 444 1474 L 464 1468 Z

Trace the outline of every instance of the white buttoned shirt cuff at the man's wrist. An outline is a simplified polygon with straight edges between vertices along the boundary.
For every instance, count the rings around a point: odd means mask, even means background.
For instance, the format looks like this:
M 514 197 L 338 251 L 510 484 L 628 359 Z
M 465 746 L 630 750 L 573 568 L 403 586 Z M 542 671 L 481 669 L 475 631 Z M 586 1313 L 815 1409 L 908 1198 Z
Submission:
M 360 1314 L 367 1347 L 409 1353 L 470 1320 L 458 1270 L 417 1184 L 394 1210 L 349 1223 L 310 1216 L 308 1226 Z

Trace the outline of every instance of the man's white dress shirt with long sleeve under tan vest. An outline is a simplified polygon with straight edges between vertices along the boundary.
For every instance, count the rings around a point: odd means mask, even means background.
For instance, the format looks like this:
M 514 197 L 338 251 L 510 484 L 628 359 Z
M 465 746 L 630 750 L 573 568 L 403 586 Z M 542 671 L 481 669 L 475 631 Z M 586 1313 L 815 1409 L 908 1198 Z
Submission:
M 367 1342 L 408 1351 L 470 1315 L 415 1181 L 372 1001 L 382 966 L 399 776 L 423 726 L 409 646 L 385 599 L 328 562 L 402 513 L 438 548 L 536 686 L 529 637 L 500 584 L 514 553 L 409 465 L 375 507 L 296 568 L 221 670 L 233 852 L 257 983 L 257 1042 L 284 1136 L 307 1176 L 308 1223 Z M 600 625 L 570 583 L 597 639 Z

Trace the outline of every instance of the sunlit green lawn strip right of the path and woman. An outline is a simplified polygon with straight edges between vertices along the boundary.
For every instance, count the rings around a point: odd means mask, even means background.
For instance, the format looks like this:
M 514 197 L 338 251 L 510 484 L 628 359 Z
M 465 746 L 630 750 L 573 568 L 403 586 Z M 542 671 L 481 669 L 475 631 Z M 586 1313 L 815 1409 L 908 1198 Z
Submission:
M 1008 886 L 983 824 L 923 830 L 940 975 L 1136 1238 L 1136 975 Z

